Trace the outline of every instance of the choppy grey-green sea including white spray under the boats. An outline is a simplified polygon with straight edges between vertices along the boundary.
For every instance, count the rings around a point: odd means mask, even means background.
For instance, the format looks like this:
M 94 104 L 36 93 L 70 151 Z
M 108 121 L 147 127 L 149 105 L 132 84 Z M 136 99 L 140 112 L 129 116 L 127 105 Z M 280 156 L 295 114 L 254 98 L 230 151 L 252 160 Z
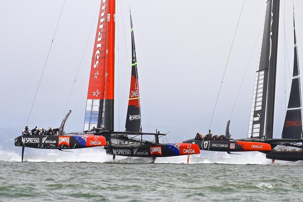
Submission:
M 201 153 L 203 154 L 203 152 Z M 302 201 L 303 162 L 247 153 L 117 157 L 103 150 L 0 155 L 0 201 Z M 203 155 L 202 155 L 203 156 Z

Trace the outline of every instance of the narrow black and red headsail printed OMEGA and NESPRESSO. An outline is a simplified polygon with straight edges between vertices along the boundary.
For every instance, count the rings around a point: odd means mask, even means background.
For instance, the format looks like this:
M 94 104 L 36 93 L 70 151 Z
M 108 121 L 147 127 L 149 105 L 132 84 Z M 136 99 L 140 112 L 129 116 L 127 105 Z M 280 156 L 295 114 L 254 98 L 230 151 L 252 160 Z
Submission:
M 136 57 L 135 39 L 134 39 L 134 31 L 132 26 L 131 13 L 130 13 L 130 19 L 131 19 L 131 32 L 132 32 L 132 76 L 131 76 L 131 86 L 129 91 L 125 131 L 142 132 L 137 57 Z

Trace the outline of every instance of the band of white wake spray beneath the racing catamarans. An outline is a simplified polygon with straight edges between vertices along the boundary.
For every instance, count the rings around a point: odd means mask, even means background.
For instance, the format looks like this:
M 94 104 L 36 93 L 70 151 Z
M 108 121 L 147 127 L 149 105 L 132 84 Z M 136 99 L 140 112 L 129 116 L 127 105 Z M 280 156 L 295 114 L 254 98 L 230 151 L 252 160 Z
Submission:
M 17 149 L 16 149 L 17 150 Z M 191 155 L 189 164 L 250 164 L 271 165 L 271 160 L 265 154 L 258 152 L 243 152 L 242 155 L 226 155 L 225 152 L 201 151 L 201 156 Z M 0 161 L 21 162 L 20 151 L 3 151 Z M 58 150 L 35 150 L 25 148 L 24 161 L 28 162 L 92 162 L 92 163 L 151 163 L 152 158 L 121 157 L 107 155 L 104 149 L 85 148 L 63 152 Z M 187 155 L 177 157 L 156 158 L 155 163 L 187 163 Z M 289 162 L 276 160 L 273 166 L 302 166 L 303 161 Z

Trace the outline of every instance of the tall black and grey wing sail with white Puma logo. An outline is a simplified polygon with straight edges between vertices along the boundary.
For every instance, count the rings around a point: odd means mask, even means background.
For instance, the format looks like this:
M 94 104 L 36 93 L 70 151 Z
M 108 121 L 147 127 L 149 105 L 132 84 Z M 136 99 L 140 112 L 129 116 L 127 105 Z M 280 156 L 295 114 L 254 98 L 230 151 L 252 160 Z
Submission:
M 263 22 L 261 43 L 258 56 L 255 87 L 251 104 L 248 137 L 263 137 L 266 113 L 265 133 L 271 133 L 275 98 L 275 77 L 278 45 L 278 22 L 280 1 L 269 0 Z M 268 97 L 268 99 L 266 99 Z M 266 111 L 267 102 L 267 111 Z M 269 135 L 270 136 L 270 135 Z

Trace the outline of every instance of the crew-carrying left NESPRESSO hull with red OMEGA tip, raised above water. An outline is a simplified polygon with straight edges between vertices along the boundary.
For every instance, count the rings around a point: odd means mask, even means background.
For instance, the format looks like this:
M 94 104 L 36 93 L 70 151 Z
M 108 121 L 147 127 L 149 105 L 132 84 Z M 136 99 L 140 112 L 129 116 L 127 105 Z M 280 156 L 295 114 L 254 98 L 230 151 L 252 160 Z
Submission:
M 15 146 L 38 149 L 81 149 L 105 146 L 105 137 L 98 135 L 29 135 L 15 138 Z

